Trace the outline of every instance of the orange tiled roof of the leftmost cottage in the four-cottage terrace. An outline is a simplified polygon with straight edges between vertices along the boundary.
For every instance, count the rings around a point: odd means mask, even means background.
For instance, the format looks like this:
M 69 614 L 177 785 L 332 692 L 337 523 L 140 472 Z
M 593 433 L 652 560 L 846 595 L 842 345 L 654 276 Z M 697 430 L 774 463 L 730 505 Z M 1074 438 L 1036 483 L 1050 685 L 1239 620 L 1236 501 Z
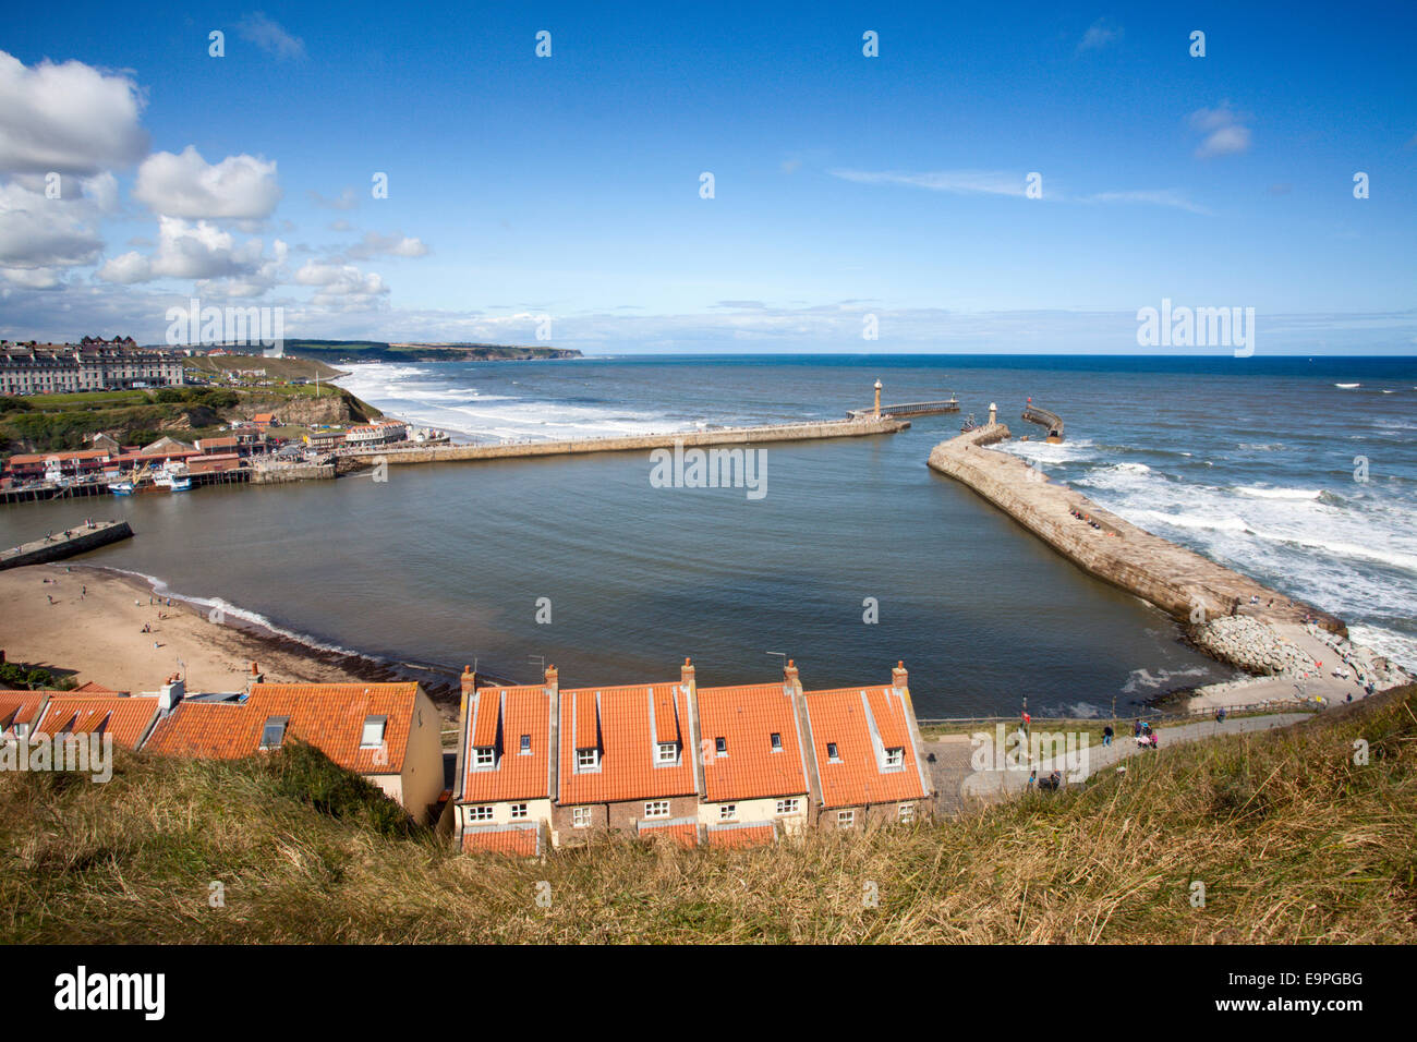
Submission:
M 468 733 L 473 737 L 463 751 L 461 802 L 546 800 L 551 795 L 551 700 L 544 688 L 479 688 L 476 699 L 468 699 Z M 486 739 L 489 730 L 492 737 Z M 476 770 L 473 749 L 493 746 L 499 730 L 502 743 L 496 746 L 496 767 Z M 526 754 L 521 753 L 523 734 L 531 739 L 531 751 Z

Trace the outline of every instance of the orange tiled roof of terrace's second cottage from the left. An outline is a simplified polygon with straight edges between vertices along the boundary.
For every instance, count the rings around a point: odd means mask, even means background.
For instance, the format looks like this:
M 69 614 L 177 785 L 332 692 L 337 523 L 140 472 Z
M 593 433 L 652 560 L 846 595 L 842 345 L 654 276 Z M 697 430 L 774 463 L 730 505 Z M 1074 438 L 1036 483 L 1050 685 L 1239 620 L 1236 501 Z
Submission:
M 599 702 L 599 729 L 594 706 Z M 694 794 L 693 750 L 680 747 L 677 763 L 655 766 L 659 717 L 672 705 L 689 719 L 689 692 L 680 683 L 635 683 L 561 692 L 561 763 L 558 802 L 597 804 Z M 650 724 L 653 715 L 655 723 Z M 683 729 L 687 746 L 687 727 Z M 575 750 L 601 750 L 599 770 L 577 771 Z

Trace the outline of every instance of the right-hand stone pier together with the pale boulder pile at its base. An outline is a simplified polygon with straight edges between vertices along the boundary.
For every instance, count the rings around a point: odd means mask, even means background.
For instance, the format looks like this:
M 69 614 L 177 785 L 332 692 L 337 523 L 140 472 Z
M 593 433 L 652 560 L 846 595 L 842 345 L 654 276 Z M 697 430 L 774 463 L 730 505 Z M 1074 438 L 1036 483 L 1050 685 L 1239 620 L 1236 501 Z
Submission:
M 985 424 L 938 444 L 928 465 L 1088 574 L 1168 612 L 1206 654 L 1261 678 L 1200 689 L 1193 707 L 1362 698 L 1367 680 L 1387 688 L 1407 679 L 1352 645 L 1338 617 L 1139 529 L 1019 456 L 988 448 L 1009 437 L 1006 425 Z

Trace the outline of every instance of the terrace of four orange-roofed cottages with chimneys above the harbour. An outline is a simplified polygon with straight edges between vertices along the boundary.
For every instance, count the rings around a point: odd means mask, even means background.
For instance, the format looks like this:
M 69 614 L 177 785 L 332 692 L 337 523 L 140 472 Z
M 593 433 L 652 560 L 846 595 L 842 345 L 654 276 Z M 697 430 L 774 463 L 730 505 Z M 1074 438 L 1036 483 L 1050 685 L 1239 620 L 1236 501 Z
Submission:
M 890 685 L 478 688 L 462 678 L 455 835 L 537 855 L 604 831 L 750 846 L 808 825 L 914 821 L 932 791 L 903 665 Z

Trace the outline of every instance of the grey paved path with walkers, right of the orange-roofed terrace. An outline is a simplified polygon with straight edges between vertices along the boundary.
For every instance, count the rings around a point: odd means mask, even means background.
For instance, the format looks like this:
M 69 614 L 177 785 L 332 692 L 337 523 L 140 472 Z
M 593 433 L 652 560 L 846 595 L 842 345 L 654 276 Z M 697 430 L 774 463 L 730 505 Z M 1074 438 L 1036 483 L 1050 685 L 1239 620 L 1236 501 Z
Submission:
M 1237 720 L 1226 720 L 1224 723 L 1197 720 L 1196 723 L 1161 727 L 1156 734 L 1162 749 L 1169 749 L 1182 741 L 1199 741 L 1217 734 L 1272 730 L 1308 719 L 1309 713 L 1272 713 L 1270 716 L 1247 716 Z M 1085 773 L 1083 777 L 1112 770 L 1127 757 L 1148 753 L 1148 750 L 1144 750 L 1131 737 L 1131 727 L 1127 727 L 1127 732 L 1125 736 L 1121 736 L 1111 746 L 1090 746 L 1087 749 Z M 992 737 L 993 732 L 989 734 Z M 935 757 L 934 763 L 930 763 L 930 770 L 938 792 L 935 807 L 939 814 L 959 814 L 982 802 L 992 802 L 1027 790 L 1027 770 L 975 771 L 969 763 L 973 746 L 968 736 L 944 736 L 942 739 L 927 741 L 924 746 L 927 756 L 932 754 Z M 1053 768 L 1053 760 L 1043 758 L 1037 766 L 1039 777 L 1046 778 Z M 1067 775 L 1070 766 L 1060 758 L 1057 770 Z M 1073 781 L 1081 781 L 1083 778 L 1076 777 L 1076 774 Z

